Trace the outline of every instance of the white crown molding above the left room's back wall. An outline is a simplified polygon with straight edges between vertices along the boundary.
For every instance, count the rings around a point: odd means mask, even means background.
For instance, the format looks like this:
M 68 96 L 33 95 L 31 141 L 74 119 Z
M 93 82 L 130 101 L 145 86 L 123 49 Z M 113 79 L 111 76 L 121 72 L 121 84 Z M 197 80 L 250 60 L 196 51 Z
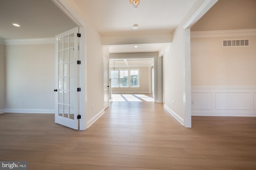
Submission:
M 5 45 L 54 44 L 55 38 L 5 39 Z

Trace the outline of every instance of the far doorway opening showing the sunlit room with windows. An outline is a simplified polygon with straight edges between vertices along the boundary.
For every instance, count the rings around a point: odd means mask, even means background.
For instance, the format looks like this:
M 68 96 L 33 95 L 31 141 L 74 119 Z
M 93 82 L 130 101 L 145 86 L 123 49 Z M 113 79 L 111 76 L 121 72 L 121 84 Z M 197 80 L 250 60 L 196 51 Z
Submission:
M 154 58 L 109 59 L 110 101 L 154 101 L 153 66 Z

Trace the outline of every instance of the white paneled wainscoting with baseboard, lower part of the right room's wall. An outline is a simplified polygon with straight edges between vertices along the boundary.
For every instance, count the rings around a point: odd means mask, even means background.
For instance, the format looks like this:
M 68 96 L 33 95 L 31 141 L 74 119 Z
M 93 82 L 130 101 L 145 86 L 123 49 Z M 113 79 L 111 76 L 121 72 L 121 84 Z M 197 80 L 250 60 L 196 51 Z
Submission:
M 192 115 L 256 116 L 256 87 L 194 86 Z

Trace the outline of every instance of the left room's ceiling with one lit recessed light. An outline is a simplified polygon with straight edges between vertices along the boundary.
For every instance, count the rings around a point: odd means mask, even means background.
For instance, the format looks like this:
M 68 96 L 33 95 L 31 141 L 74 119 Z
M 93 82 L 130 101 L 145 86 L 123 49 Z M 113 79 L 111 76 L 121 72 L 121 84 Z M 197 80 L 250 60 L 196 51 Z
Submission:
M 51 0 L 0 0 L 0 24 L 1 39 L 49 38 L 76 27 Z

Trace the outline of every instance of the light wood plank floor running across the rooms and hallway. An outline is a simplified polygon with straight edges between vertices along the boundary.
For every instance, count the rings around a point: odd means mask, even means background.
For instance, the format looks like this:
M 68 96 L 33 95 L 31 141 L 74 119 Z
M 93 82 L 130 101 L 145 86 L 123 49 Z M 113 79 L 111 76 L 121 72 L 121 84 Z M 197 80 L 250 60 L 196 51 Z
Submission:
M 153 102 L 113 102 L 86 131 L 53 114 L 0 114 L 0 160 L 29 170 L 255 170 L 256 117 L 192 117 Z

